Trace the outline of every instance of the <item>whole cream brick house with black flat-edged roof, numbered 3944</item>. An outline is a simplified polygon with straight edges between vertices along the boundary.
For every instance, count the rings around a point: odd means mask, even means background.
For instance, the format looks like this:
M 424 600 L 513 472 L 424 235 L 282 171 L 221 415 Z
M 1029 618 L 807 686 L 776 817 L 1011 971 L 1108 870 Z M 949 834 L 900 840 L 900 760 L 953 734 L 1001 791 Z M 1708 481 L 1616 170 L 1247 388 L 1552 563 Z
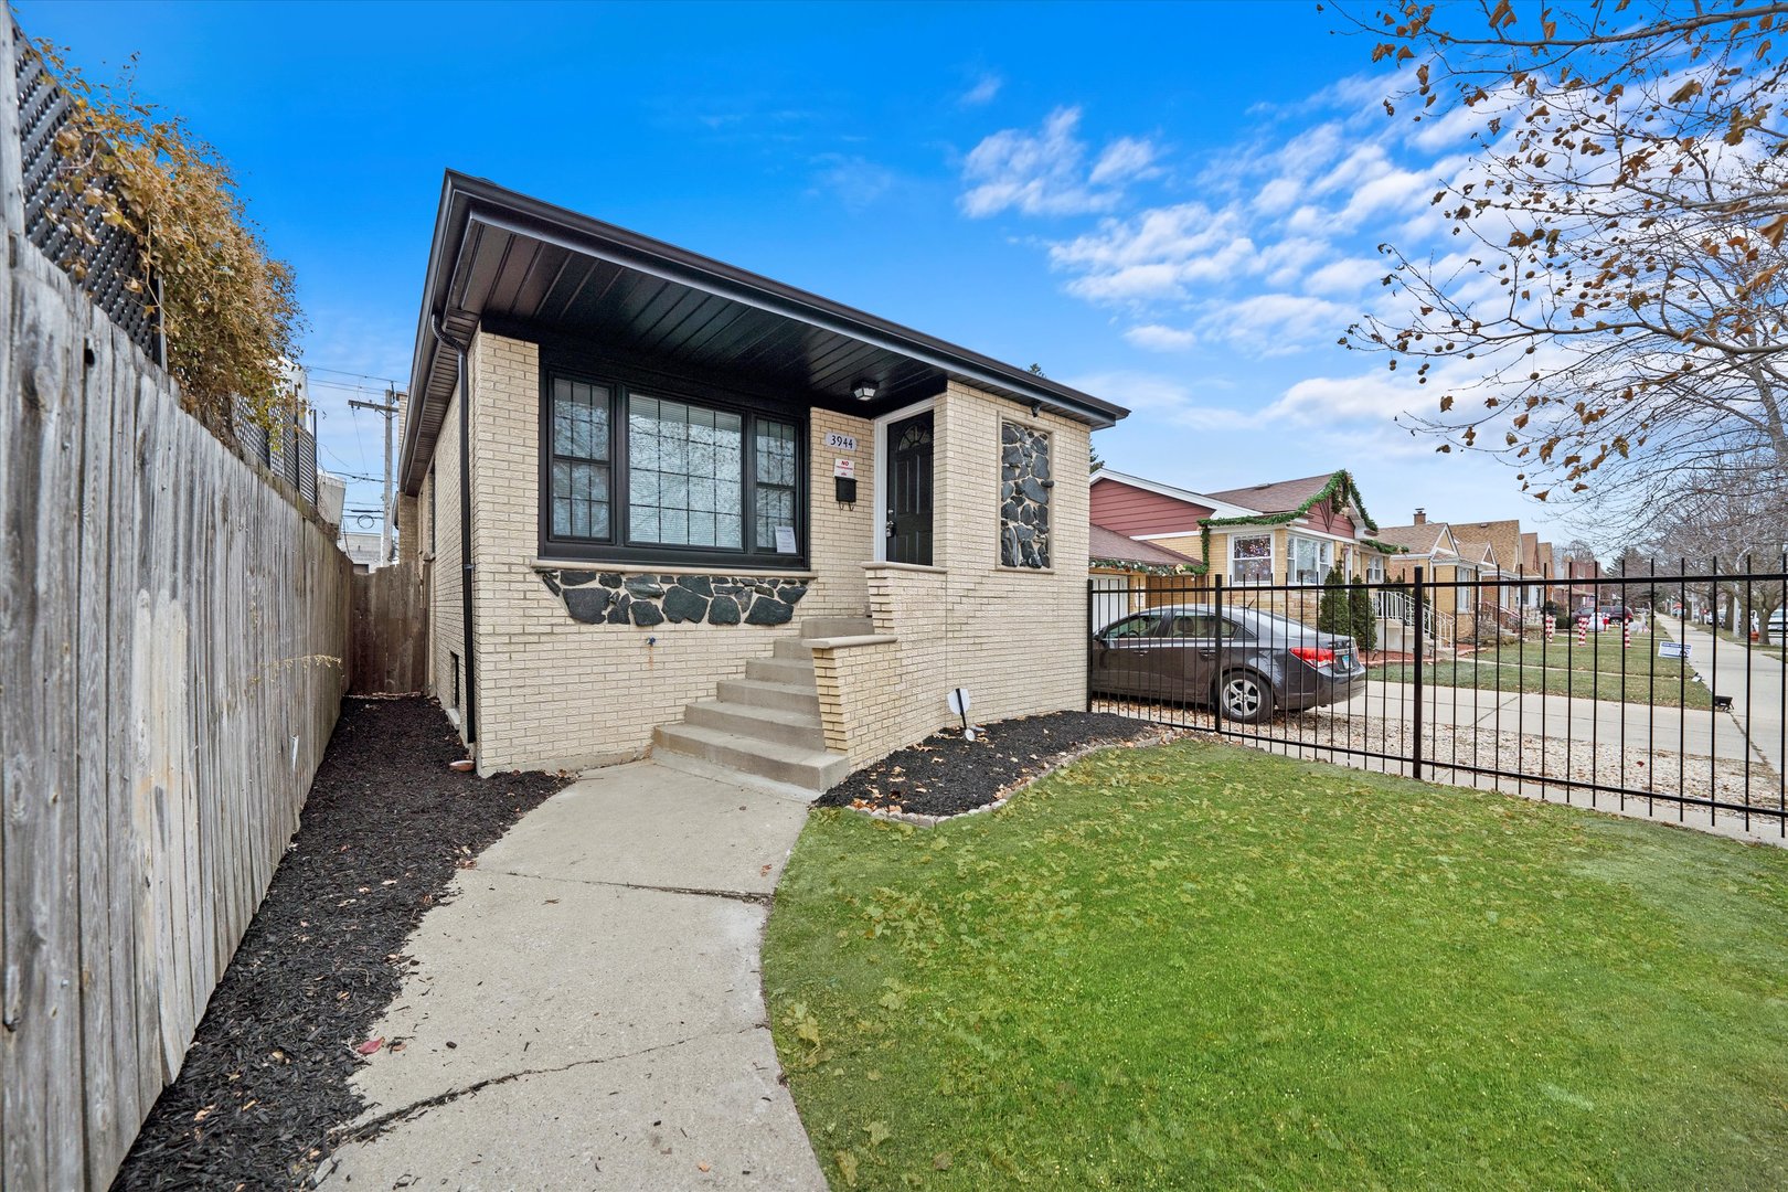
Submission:
M 1118 406 L 458 173 L 411 395 L 429 690 L 481 774 L 656 742 L 824 788 L 957 686 L 1084 706 Z

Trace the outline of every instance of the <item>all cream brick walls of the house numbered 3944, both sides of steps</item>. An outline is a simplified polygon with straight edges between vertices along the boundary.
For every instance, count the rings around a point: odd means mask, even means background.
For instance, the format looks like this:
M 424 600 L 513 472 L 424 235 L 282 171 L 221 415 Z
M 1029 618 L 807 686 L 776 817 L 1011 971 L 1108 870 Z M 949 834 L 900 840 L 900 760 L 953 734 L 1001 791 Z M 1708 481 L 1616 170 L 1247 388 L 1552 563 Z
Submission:
M 753 625 L 583 625 L 540 579 L 538 348 L 479 334 L 472 372 L 472 543 L 477 649 L 477 763 L 578 768 L 640 756 L 658 724 L 683 704 L 740 677 L 778 636 L 814 617 L 871 611 L 898 643 L 815 659 L 828 745 L 853 763 L 874 760 L 951 720 L 946 693 L 967 686 L 978 720 L 1082 708 L 1085 702 L 1087 427 L 1041 415 L 966 384 L 935 404 L 935 568 L 871 567 L 874 427 L 814 409 L 810 418 L 808 595 L 796 620 Z M 434 692 L 451 699 L 449 651 L 460 649 L 458 409 L 451 407 L 429 486 L 436 558 L 431 568 Z M 999 547 L 999 424 L 1051 434 L 1048 570 L 1005 568 Z M 855 454 L 828 449 L 851 434 Z M 856 461 L 858 500 L 840 506 L 833 459 Z M 422 529 L 426 534 L 426 524 Z M 637 574 L 635 568 L 633 574 Z M 678 568 L 662 568 L 667 574 Z M 717 568 L 713 568 L 717 570 Z

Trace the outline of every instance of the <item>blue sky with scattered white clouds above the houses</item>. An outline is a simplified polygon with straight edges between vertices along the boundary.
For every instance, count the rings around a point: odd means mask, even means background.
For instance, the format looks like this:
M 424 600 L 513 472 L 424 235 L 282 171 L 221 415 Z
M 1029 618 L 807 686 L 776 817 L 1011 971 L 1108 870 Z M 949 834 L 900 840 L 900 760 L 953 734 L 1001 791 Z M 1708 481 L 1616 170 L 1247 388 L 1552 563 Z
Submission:
M 1547 527 L 1507 468 L 1391 422 L 1434 386 L 1336 345 L 1386 300 L 1377 243 L 1446 252 L 1463 130 L 1387 118 L 1395 79 L 1314 4 L 16 11 L 89 75 L 138 54 L 234 163 L 297 268 L 331 470 L 379 472 L 336 386 L 408 379 L 451 166 L 1039 363 L 1135 411 L 1094 440 L 1125 472 L 1348 466 L 1386 525 Z

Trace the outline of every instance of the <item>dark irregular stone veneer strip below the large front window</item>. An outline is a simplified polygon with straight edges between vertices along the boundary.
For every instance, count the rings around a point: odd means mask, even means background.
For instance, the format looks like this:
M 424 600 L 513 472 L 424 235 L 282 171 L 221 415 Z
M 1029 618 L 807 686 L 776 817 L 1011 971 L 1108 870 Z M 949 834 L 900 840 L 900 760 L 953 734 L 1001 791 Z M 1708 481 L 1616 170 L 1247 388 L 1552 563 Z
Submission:
M 540 583 L 585 625 L 787 625 L 806 595 L 805 581 L 769 575 L 542 568 Z

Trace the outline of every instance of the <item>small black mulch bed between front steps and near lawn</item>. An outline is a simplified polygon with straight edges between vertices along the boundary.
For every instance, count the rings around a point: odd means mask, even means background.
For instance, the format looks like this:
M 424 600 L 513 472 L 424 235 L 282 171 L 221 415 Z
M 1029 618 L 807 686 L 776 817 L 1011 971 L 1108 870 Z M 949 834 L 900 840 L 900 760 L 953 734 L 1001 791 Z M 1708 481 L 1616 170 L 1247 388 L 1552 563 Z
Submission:
M 962 729 L 944 729 L 856 770 L 821 795 L 817 806 L 960 815 L 998 802 L 1092 745 L 1160 735 L 1160 726 L 1109 711 L 1051 711 L 998 720 L 973 742 L 964 740 Z

